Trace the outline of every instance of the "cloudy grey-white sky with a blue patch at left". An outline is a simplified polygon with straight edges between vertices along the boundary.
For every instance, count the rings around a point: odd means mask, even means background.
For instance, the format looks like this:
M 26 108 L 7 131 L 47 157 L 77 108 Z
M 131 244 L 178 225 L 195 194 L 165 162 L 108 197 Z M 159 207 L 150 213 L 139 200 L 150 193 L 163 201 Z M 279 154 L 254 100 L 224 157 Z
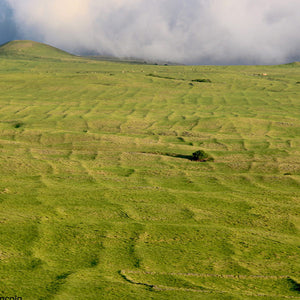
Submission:
M 0 44 L 184 64 L 300 61 L 300 0 L 0 0 Z

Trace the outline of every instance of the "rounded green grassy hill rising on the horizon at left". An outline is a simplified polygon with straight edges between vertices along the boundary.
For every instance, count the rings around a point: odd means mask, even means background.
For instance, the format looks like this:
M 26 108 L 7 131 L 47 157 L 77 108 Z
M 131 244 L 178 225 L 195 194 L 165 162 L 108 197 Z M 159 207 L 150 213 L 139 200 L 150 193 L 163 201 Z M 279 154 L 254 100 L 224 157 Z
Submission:
M 75 56 L 58 48 L 27 40 L 16 40 L 0 46 L 0 56 L 67 59 Z

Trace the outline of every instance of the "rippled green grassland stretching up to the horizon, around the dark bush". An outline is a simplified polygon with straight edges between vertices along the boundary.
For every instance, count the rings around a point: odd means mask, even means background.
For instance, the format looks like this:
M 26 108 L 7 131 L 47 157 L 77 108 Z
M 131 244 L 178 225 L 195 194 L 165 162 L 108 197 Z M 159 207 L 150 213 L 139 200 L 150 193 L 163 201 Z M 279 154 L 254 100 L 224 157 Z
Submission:
M 5 45 L 0 296 L 300 299 L 299 81 Z

